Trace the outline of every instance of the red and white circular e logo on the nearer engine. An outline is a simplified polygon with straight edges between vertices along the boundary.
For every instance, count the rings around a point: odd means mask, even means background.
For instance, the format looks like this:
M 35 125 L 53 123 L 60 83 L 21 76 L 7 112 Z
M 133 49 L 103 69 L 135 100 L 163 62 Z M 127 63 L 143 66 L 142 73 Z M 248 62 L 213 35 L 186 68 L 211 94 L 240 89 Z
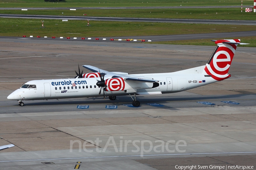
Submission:
M 125 82 L 123 78 L 109 78 L 105 82 L 108 86 L 108 89 L 106 89 L 106 91 L 119 91 L 124 90 L 125 88 Z

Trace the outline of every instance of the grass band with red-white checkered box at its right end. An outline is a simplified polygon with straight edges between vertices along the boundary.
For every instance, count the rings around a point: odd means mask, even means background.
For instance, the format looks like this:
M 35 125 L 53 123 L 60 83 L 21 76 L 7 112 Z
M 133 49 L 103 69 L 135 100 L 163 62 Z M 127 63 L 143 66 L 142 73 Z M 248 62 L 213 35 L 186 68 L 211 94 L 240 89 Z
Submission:
M 62 14 L 63 12 L 63 14 Z M 241 12 L 241 8 L 189 8 L 189 9 L 90 9 L 90 10 L 1 10 L 2 14 L 106 16 L 134 18 L 187 18 L 219 20 L 255 20 L 254 12 Z

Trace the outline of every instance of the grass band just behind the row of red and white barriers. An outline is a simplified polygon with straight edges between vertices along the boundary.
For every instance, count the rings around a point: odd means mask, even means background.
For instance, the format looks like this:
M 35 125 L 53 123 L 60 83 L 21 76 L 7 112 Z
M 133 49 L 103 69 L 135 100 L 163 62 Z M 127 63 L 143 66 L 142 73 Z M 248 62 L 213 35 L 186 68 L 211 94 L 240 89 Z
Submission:
M 57 25 L 58 24 L 58 25 Z M 18 25 L 18 26 L 17 26 Z M 214 25 L 214 24 L 178 24 L 147 22 L 107 22 L 82 20 L 44 20 L 40 19 L 0 18 L 0 36 L 48 36 L 48 37 L 118 37 L 141 35 L 173 35 L 192 33 L 218 33 L 256 30 L 256 25 Z

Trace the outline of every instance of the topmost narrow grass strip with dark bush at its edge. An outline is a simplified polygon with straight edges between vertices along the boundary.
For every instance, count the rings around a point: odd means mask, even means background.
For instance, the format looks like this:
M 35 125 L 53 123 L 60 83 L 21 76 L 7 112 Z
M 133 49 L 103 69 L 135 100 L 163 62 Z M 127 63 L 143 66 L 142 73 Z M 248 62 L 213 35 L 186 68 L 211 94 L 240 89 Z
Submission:
M 231 6 L 241 5 L 241 0 L 66 0 L 62 3 L 44 0 L 1 0 L 0 8 L 7 7 L 169 7 L 169 6 Z M 253 5 L 243 0 L 243 5 Z

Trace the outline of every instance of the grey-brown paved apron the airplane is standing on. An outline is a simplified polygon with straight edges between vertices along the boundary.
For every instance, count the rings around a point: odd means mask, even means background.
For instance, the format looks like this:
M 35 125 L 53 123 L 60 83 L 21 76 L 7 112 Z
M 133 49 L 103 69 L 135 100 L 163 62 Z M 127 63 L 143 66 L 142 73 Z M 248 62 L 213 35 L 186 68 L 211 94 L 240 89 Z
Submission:
M 255 167 L 256 48 L 237 48 L 230 78 L 180 93 L 138 95 L 139 108 L 129 107 L 129 96 L 25 101 L 24 107 L 7 99 L 30 80 L 73 78 L 78 64 L 130 74 L 174 72 L 205 65 L 214 48 L 0 38 L 0 146 L 15 145 L 0 151 L 0 169 Z

